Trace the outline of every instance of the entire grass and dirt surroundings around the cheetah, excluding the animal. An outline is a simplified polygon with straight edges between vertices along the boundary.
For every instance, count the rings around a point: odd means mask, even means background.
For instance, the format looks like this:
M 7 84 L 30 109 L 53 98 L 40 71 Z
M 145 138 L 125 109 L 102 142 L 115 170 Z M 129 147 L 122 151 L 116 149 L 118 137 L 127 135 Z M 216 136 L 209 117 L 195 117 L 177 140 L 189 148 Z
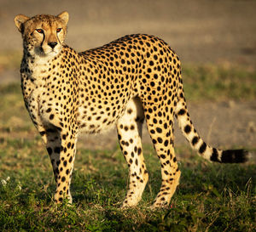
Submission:
M 245 148 L 253 159 L 211 165 L 175 123 L 181 183 L 170 208 L 150 212 L 160 162 L 143 127 L 150 178 L 139 207 L 124 213 L 117 207 L 128 170 L 115 128 L 81 135 L 74 207 L 55 207 L 50 160 L 20 91 L 22 41 L 14 18 L 64 10 L 67 44 L 77 51 L 131 33 L 164 39 L 181 59 L 189 114 L 201 137 L 220 149 Z M 0 0 L 1 231 L 255 231 L 255 155 L 256 0 Z

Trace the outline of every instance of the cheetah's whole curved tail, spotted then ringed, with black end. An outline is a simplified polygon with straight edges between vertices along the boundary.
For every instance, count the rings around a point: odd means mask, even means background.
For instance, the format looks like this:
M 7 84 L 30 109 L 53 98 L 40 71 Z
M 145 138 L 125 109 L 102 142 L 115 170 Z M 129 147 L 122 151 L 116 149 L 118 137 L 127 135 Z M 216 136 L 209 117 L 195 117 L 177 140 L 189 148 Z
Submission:
M 180 89 L 183 90 L 183 88 Z M 191 147 L 196 150 L 200 156 L 208 161 L 220 163 L 242 163 L 249 159 L 247 150 L 218 150 L 207 145 L 196 132 L 191 122 L 183 92 L 179 93 L 178 96 L 179 99 L 175 110 L 178 125 Z

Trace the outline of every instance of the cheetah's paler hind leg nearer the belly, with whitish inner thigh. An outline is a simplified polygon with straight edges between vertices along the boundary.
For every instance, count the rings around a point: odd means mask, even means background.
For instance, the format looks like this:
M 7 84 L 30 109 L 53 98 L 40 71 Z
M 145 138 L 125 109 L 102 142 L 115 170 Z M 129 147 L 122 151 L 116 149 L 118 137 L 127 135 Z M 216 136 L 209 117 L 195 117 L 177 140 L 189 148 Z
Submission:
M 139 99 L 131 99 L 124 116 L 117 123 L 120 148 L 129 167 L 129 187 L 122 207 L 134 207 L 141 200 L 148 182 L 142 150 L 143 107 Z

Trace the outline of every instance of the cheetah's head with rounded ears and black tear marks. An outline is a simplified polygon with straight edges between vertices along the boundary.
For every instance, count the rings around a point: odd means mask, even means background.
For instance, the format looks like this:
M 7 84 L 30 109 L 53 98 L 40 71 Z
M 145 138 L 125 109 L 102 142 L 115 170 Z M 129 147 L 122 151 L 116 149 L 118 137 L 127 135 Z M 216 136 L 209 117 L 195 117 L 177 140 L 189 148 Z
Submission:
M 23 14 L 15 17 L 23 46 L 32 56 L 51 58 L 61 52 L 67 34 L 67 11 L 57 16 L 40 14 L 32 18 Z

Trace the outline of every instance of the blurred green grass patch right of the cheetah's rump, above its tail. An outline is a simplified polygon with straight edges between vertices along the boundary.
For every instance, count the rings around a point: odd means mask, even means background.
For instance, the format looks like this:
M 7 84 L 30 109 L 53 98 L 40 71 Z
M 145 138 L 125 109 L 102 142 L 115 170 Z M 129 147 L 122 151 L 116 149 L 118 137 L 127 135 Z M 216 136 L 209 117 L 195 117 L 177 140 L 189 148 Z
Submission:
M 225 65 L 185 65 L 185 96 L 189 101 L 256 99 L 256 69 Z

